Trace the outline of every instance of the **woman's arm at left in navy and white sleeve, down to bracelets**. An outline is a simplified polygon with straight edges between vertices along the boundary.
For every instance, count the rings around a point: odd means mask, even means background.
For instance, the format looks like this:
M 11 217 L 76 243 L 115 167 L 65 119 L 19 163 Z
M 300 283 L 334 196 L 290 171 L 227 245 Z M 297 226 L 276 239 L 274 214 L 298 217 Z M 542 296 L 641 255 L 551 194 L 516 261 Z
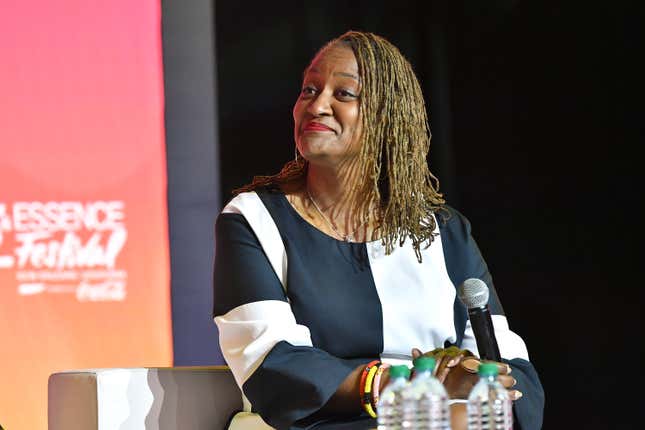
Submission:
M 214 315 L 238 385 L 270 425 L 289 427 L 314 413 L 361 414 L 358 383 L 370 359 L 343 360 L 313 347 L 240 214 L 217 220 Z

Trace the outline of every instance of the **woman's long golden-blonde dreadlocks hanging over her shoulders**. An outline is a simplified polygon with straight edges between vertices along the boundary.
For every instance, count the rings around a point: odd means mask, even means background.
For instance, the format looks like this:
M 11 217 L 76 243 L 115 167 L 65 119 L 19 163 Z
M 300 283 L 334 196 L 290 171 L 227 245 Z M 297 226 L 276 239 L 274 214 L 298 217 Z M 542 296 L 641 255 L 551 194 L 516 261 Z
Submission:
M 402 246 L 410 238 L 421 262 L 421 247 L 434 240 L 432 214 L 445 203 L 439 181 L 426 161 L 430 130 L 421 87 L 410 63 L 384 38 L 349 31 L 327 43 L 319 53 L 338 44 L 354 52 L 361 82 L 363 131 L 356 177 L 365 180 L 351 191 L 356 219 L 366 219 L 376 203 L 381 215 L 378 231 L 386 254 L 394 250 L 395 243 Z M 275 189 L 303 180 L 307 165 L 304 158 L 296 156 L 280 173 L 256 176 L 234 193 Z

